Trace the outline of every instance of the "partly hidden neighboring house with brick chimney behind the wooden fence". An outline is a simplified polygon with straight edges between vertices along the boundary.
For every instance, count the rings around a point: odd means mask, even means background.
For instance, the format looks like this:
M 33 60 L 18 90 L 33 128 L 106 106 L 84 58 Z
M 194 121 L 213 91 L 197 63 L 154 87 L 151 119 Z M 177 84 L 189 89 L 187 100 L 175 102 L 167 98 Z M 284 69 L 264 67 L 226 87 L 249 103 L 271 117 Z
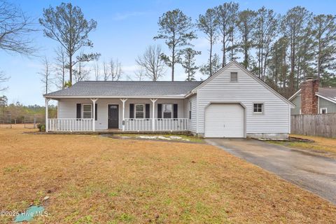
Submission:
M 318 80 L 307 78 L 300 90 L 289 98 L 295 104 L 291 115 L 336 113 L 336 88 L 318 87 Z

